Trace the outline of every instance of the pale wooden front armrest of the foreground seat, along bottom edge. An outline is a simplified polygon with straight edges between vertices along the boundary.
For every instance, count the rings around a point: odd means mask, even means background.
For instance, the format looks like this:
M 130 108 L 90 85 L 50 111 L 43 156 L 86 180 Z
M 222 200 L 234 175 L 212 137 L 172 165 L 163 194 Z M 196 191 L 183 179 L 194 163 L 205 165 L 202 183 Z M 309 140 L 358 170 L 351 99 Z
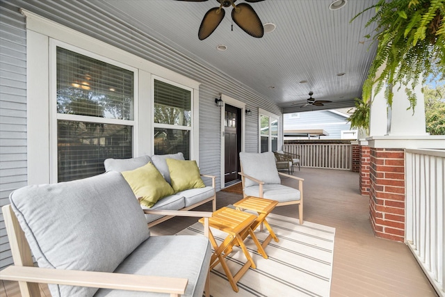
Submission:
M 66 284 L 69 286 L 148 291 L 179 296 L 186 291 L 186 278 L 163 278 L 97 271 L 74 271 L 29 266 L 9 266 L 0 273 L 1 280 Z

